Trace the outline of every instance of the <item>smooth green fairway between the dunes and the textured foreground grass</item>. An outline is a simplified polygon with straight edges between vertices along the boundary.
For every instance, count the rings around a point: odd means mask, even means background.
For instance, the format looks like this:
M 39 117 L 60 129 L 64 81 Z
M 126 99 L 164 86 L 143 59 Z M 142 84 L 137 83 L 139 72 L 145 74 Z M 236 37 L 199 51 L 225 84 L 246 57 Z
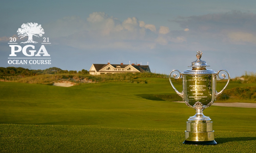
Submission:
M 0 82 L 0 123 L 184 130 L 195 110 L 184 103 L 143 98 L 141 95 L 176 95 L 167 79 L 144 79 L 147 84 L 108 82 L 72 87 Z M 181 91 L 182 87 L 176 86 Z M 256 131 L 255 108 L 211 106 L 204 114 L 214 122 L 215 131 Z

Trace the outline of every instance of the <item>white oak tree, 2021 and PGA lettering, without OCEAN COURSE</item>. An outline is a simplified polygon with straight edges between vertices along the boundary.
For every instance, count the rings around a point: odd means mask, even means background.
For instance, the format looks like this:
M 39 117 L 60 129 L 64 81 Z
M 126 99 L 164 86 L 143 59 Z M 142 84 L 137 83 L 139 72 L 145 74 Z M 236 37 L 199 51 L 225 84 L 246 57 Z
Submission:
M 38 43 L 33 41 L 33 36 L 36 37 L 41 37 L 45 32 L 44 29 L 41 27 L 41 24 L 38 23 L 23 23 L 21 25 L 21 28 L 19 28 L 17 30 L 17 33 L 21 38 L 28 36 L 28 40 L 26 42 L 21 42 L 21 44 L 26 44 L 26 43 Z M 10 38 L 10 42 L 16 42 L 16 38 Z M 43 42 L 49 42 L 49 38 L 44 38 Z M 12 43 L 10 43 L 12 44 Z M 17 43 L 15 43 L 17 44 Z M 43 43 L 42 43 L 43 44 Z M 46 44 L 50 44 L 50 43 L 46 43 Z M 37 50 L 35 49 L 34 45 L 25 45 L 24 47 L 20 46 L 20 45 L 9 45 L 11 47 L 11 54 L 9 56 L 17 56 L 15 53 L 21 52 L 25 55 L 25 56 L 50 56 L 50 54 L 48 54 L 46 48 L 44 45 L 41 45 L 41 47 Z M 32 50 L 33 49 L 33 50 Z M 37 52 L 35 54 L 35 52 Z

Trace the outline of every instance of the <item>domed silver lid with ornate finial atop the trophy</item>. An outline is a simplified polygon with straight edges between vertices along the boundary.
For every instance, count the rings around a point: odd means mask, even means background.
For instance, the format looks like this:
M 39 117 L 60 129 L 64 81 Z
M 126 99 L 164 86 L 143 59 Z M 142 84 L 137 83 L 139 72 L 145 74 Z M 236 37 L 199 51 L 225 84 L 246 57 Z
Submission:
M 215 74 L 216 72 L 213 70 L 206 69 L 207 63 L 206 61 L 201 60 L 202 52 L 198 51 L 196 54 L 197 60 L 193 61 L 192 64 L 188 67 L 192 67 L 192 70 L 186 70 L 183 74 Z

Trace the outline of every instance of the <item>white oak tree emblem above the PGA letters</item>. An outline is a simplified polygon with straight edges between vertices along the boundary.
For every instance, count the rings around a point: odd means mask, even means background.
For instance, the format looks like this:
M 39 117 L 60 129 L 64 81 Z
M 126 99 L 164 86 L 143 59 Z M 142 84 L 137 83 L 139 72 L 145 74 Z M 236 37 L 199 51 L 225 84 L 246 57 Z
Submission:
M 41 27 L 41 24 L 38 23 L 23 23 L 21 28 L 17 30 L 17 33 L 21 38 L 28 36 L 28 41 L 21 42 L 21 43 L 37 43 L 33 41 L 33 36 L 41 37 L 45 32 L 44 29 Z

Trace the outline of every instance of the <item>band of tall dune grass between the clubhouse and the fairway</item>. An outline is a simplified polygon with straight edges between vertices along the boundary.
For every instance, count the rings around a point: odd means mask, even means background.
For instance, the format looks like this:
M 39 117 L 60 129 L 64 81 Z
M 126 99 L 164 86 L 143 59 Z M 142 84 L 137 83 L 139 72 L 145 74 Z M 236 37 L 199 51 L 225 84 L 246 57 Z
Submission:
M 120 74 L 103 74 L 90 75 L 79 73 L 57 73 L 57 74 L 39 74 L 27 77 L 7 76 L 7 82 L 21 82 L 51 85 L 53 82 L 70 81 L 75 83 L 95 83 L 95 82 L 129 82 L 129 83 L 147 83 L 145 79 L 140 78 L 167 78 L 164 74 L 155 73 L 120 73 Z

